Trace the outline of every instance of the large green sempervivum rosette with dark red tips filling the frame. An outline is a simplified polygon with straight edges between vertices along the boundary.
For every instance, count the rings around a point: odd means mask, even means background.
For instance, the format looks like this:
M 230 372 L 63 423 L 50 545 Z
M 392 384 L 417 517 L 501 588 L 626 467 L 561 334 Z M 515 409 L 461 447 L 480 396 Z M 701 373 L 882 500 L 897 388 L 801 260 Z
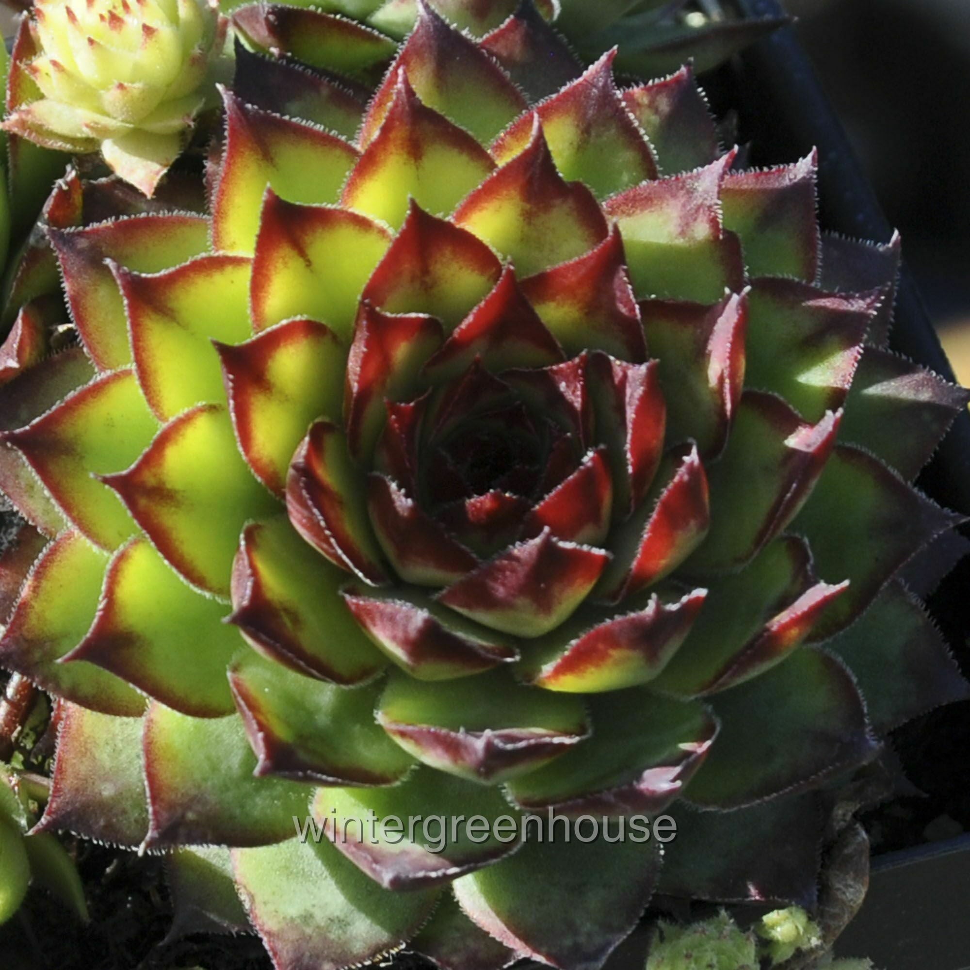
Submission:
M 499 30 L 532 98 L 570 63 Z M 489 36 L 422 6 L 366 110 L 243 53 L 210 216 L 51 229 L 82 346 L 0 390 L 42 827 L 170 851 L 280 968 L 590 968 L 658 888 L 810 904 L 816 792 L 964 695 L 893 579 L 966 400 L 884 348 L 895 247 L 820 235 L 812 158 L 734 171 L 689 72 L 530 107 Z M 452 824 L 550 808 L 679 832 Z

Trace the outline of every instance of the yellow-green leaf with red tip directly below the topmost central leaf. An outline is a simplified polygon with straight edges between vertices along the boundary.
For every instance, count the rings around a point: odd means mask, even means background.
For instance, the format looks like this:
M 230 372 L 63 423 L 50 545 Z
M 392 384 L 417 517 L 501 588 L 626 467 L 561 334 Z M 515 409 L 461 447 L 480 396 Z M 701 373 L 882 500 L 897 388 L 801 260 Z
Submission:
M 340 203 L 398 229 L 409 200 L 447 215 L 494 170 L 489 153 L 467 131 L 423 105 L 402 71 L 380 129 L 343 186 Z

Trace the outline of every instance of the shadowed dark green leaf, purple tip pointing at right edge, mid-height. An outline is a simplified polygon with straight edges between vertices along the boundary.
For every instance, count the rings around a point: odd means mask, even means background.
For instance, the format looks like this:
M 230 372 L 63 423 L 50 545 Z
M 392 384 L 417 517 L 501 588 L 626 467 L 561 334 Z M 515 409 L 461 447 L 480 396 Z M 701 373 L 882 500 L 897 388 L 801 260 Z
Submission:
M 822 640 L 847 627 L 895 572 L 937 535 L 962 522 L 910 488 L 878 459 L 839 445 L 792 531 L 812 548 L 819 575 L 850 581 L 813 633 Z

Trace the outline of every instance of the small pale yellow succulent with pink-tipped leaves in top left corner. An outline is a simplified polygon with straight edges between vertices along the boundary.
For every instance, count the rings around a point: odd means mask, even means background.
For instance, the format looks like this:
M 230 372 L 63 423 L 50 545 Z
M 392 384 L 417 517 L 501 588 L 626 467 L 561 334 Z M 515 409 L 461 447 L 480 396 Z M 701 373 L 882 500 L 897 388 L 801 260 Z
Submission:
M 215 0 L 37 0 L 3 127 L 59 151 L 100 150 L 150 196 L 212 101 L 224 28 Z

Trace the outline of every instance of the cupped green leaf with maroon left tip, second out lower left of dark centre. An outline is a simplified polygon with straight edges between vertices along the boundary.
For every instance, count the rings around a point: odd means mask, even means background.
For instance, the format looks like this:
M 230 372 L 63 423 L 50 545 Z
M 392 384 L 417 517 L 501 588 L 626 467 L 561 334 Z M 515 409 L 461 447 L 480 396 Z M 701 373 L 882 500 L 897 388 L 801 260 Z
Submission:
M 283 516 L 249 523 L 228 622 L 271 661 L 344 687 L 363 683 L 385 664 L 339 598 L 346 578 Z

